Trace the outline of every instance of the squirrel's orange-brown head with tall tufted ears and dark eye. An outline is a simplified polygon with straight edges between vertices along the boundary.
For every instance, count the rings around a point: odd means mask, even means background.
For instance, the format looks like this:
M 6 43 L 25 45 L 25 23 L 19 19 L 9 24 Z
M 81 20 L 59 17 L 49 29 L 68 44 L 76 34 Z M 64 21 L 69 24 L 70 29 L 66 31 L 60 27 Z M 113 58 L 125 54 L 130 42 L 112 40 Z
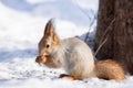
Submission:
M 44 35 L 39 42 L 39 56 L 51 55 L 55 47 L 60 44 L 60 38 L 55 33 L 53 19 L 51 19 L 44 29 Z

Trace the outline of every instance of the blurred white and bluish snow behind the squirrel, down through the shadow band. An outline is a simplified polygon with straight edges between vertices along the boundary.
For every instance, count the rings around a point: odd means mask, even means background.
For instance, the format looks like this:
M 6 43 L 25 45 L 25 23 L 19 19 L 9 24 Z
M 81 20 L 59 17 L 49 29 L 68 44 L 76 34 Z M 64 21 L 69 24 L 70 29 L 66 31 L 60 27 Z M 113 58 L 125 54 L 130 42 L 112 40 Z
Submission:
M 61 38 L 83 35 L 98 4 L 98 0 L 0 0 L 0 59 L 34 57 L 51 18 Z

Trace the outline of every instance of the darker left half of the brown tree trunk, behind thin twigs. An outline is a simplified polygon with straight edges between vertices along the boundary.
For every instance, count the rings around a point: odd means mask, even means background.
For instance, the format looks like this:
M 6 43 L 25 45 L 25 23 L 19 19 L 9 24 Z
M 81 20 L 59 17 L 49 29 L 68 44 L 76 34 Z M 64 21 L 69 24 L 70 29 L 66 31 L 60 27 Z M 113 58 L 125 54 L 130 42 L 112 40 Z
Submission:
M 95 37 L 95 51 L 96 48 L 100 46 L 101 41 L 108 29 L 108 26 L 110 25 L 111 21 L 114 18 L 114 0 L 100 0 L 100 4 L 99 4 L 99 13 L 98 13 L 98 31 L 96 31 L 96 37 Z M 113 29 L 112 26 L 110 26 L 110 29 Z M 106 43 L 102 46 L 102 50 L 99 51 L 99 53 L 96 54 L 96 57 L 99 59 L 104 59 L 106 57 L 112 58 L 113 53 L 112 53 L 112 47 L 113 47 L 113 43 L 112 43 L 112 32 L 110 32 L 109 37 Z M 103 42 L 103 41 L 102 41 Z

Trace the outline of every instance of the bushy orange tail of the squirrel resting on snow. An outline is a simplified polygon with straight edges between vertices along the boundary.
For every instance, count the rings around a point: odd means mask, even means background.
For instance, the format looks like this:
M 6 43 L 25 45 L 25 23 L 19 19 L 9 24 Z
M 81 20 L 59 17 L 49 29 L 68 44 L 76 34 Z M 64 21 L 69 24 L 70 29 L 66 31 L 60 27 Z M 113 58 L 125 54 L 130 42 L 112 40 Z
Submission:
M 116 62 L 106 59 L 95 64 L 95 72 L 99 78 L 123 80 L 125 78 L 124 70 Z

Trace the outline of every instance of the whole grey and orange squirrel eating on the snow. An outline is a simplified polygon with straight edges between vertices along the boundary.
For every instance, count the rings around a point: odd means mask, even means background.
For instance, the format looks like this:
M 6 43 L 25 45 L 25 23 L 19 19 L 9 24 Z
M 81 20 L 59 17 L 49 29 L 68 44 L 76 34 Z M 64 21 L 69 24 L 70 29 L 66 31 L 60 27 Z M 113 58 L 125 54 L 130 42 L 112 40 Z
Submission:
M 35 62 L 50 68 L 63 67 L 68 75 L 61 74 L 60 78 L 75 80 L 98 77 L 117 81 L 125 78 L 124 69 L 116 62 L 111 59 L 94 62 L 91 48 L 80 38 L 60 40 L 53 26 L 53 19 L 45 25 Z

